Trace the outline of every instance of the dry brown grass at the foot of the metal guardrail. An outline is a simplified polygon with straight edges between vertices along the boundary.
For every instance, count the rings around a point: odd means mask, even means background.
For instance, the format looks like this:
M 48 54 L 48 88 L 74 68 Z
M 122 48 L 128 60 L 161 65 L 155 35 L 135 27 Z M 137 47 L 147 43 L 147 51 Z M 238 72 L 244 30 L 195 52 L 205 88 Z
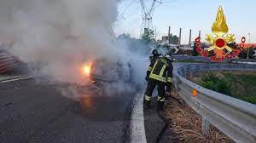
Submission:
M 177 91 L 172 91 L 172 96 L 182 100 Z M 185 102 L 183 102 L 185 103 Z M 184 143 L 226 143 L 233 142 L 218 129 L 211 127 L 210 133 L 201 133 L 201 116 L 188 105 L 179 105 L 176 100 L 166 100 L 165 116 L 172 124 L 168 127 L 178 135 Z

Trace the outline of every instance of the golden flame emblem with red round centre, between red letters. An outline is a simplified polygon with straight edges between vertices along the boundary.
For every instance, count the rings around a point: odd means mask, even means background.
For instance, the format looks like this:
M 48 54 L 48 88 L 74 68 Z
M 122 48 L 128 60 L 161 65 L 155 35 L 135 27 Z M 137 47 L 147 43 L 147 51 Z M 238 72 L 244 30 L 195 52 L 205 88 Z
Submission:
M 233 51 L 227 44 L 235 41 L 235 35 L 227 34 L 229 27 L 224 16 L 224 10 L 221 6 L 218 8 L 216 20 L 212 25 L 212 32 L 214 36 L 207 34 L 206 37 L 207 43 L 212 44 L 212 47 L 207 49 L 208 52 L 214 50 L 215 54 L 218 54 L 219 57 L 223 57 L 224 49 L 228 50 L 229 53 Z

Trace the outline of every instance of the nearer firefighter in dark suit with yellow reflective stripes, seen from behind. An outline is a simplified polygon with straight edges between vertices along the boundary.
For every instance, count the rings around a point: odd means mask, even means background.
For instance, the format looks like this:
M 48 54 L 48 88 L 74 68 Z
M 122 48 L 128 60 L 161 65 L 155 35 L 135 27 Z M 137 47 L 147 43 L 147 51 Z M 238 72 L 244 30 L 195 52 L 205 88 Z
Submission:
M 159 57 L 157 60 L 151 61 L 145 78 L 148 82 L 143 102 L 146 108 L 149 108 L 152 93 L 157 86 L 157 110 L 163 111 L 166 100 L 166 91 L 170 92 L 172 87 L 172 69 L 172 57 L 170 55 Z

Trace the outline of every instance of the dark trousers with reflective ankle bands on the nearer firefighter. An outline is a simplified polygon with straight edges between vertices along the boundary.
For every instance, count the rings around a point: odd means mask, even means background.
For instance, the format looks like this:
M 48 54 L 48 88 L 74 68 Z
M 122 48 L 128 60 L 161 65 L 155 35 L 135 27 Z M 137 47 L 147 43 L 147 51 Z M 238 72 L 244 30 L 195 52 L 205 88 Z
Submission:
M 144 99 L 144 105 L 145 106 L 150 106 L 150 102 L 152 99 L 152 93 L 157 86 L 157 91 L 158 91 L 158 104 L 157 104 L 157 110 L 163 110 L 164 104 L 165 104 L 165 89 L 166 89 L 166 83 L 160 82 L 158 80 L 149 78 L 148 79 L 148 86 L 145 92 L 145 99 Z

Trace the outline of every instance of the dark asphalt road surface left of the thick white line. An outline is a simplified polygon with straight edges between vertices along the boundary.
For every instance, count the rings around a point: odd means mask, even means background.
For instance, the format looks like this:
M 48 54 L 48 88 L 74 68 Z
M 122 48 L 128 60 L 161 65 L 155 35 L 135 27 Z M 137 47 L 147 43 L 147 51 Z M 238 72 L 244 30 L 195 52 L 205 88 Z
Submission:
M 34 79 L 0 84 L 0 142 L 129 142 L 134 91 L 79 100 Z

